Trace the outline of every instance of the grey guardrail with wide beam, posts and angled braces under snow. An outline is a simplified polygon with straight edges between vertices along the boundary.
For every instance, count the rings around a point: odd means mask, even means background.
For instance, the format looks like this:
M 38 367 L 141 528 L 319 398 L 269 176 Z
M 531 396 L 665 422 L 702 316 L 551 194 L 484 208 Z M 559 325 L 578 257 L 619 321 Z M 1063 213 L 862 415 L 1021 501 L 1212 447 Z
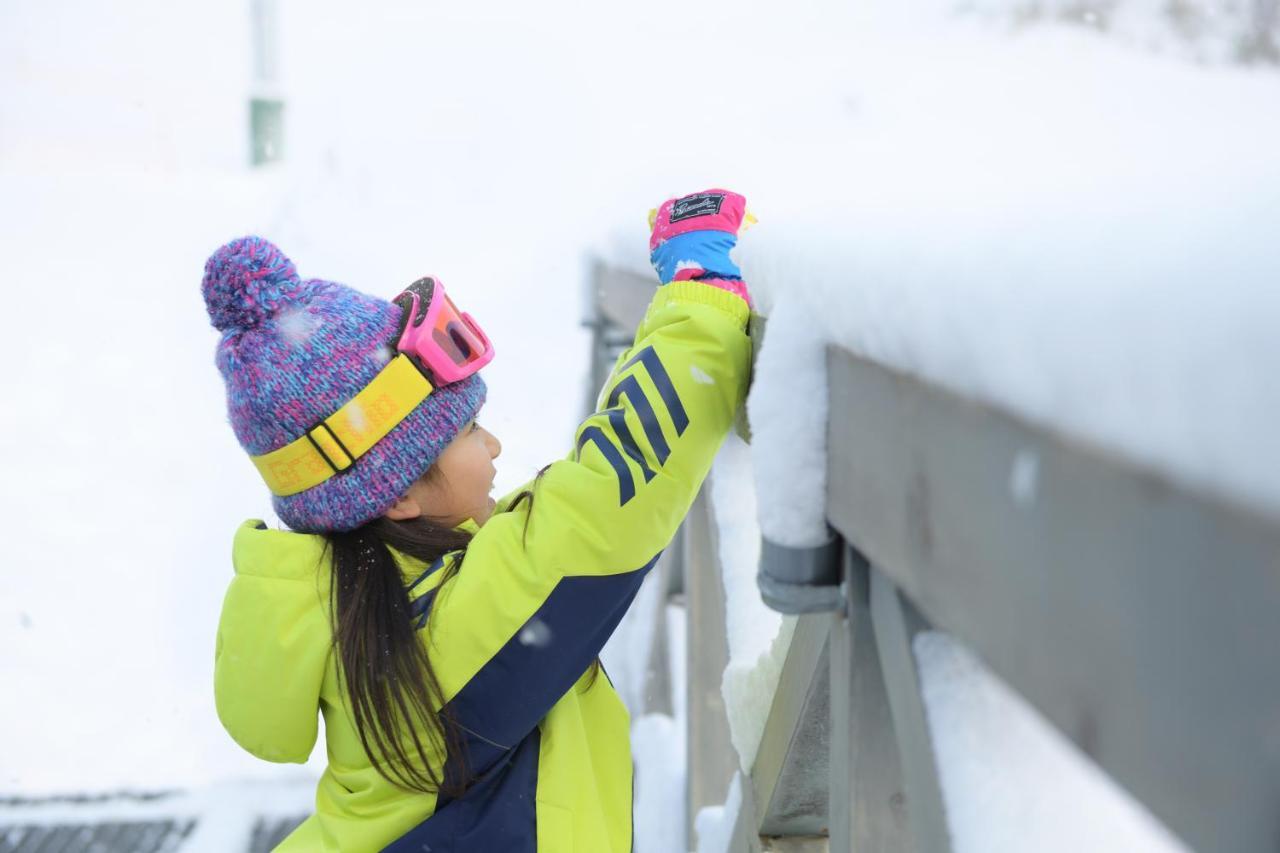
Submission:
M 598 265 L 593 287 L 625 347 L 654 283 Z M 1280 849 L 1280 520 L 838 348 L 828 382 L 838 608 L 799 617 L 733 850 L 951 849 L 911 651 L 929 628 L 1193 848 Z M 684 528 L 690 818 L 736 770 L 708 738 L 727 729 L 713 535 L 703 496 Z

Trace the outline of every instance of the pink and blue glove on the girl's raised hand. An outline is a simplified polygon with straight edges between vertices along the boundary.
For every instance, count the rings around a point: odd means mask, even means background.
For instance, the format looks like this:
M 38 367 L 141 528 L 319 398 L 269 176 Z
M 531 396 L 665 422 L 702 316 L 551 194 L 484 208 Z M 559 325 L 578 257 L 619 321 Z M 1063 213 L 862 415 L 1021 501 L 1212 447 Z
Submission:
M 705 190 L 668 199 L 649 211 L 649 263 L 663 284 L 696 279 L 741 296 L 751 297 L 742 272 L 728 257 L 737 234 L 754 222 L 746 199 L 728 190 Z

